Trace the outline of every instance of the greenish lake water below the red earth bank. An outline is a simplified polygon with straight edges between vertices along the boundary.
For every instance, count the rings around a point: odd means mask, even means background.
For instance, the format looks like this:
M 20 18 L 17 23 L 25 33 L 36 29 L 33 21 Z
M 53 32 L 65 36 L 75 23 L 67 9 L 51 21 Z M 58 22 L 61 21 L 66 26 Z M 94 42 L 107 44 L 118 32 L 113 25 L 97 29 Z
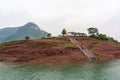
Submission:
M 120 60 L 79 63 L 0 63 L 0 80 L 120 80 Z

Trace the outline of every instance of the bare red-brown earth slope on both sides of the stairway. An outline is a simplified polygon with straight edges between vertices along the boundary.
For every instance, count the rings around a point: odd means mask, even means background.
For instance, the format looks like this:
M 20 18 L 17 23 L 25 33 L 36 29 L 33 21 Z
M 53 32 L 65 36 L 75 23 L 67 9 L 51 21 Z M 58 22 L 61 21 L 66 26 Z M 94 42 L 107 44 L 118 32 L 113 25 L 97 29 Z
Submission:
M 119 59 L 120 44 L 89 37 L 74 37 L 91 50 L 99 61 Z M 11 62 L 87 61 L 68 38 L 11 41 L 0 44 L 0 60 Z

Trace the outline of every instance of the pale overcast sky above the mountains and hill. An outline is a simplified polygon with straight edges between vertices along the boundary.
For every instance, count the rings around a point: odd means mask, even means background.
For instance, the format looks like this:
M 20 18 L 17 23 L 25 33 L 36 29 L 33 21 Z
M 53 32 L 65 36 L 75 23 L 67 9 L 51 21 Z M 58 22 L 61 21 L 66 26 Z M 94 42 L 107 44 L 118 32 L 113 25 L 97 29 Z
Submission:
M 120 0 L 0 0 L 0 28 L 27 22 L 55 36 L 96 27 L 120 41 Z

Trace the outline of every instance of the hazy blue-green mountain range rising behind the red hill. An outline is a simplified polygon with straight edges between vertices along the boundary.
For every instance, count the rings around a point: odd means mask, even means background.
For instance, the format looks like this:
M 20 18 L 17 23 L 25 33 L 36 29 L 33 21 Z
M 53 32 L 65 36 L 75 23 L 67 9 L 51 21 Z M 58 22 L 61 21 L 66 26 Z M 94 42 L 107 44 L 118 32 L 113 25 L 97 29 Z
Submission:
M 0 39 L 1 42 L 24 40 L 25 36 L 29 36 L 30 39 L 40 39 L 47 37 L 47 34 L 46 31 L 40 29 L 35 23 L 29 22 L 21 27 L 1 29 Z

